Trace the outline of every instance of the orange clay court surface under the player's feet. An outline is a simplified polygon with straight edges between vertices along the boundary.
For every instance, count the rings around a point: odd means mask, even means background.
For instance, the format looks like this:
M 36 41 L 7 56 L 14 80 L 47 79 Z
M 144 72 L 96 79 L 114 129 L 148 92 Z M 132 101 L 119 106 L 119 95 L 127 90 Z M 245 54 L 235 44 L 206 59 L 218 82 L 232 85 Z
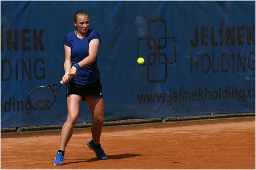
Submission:
M 99 160 L 74 134 L 63 166 L 54 166 L 60 136 L 1 139 L 1 169 L 255 169 L 255 121 L 104 132 Z

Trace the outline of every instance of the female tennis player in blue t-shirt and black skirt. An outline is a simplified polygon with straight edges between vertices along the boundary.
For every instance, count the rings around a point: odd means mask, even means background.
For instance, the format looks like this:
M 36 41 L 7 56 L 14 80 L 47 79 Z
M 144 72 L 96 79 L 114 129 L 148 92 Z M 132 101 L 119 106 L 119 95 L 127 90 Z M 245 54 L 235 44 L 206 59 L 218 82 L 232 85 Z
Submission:
M 79 115 L 79 106 L 86 100 L 92 114 L 92 140 L 87 142 L 99 159 L 107 159 L 100 145 L 100 135 L 104 120 L 104 102 L 100 72 L 97 67 L 97 53 L 100 35 L 89 29 L 89 15 L 85 11 L 77 11 L 73 24 L 76 30 L 69 32 L 64 40 L 65 74 L 62 77 L 66 84 L 68 117 L 60 135 L 60 147 L 54 159 L 54 165 L 63 165 L 65 147 L 72 136 Z

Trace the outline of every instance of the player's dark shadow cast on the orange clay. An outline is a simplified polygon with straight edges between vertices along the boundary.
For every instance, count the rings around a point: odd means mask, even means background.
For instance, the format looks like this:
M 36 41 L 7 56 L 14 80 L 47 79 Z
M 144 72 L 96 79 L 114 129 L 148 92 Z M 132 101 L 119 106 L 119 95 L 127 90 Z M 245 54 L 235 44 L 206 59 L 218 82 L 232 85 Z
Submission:
M 124 158 L 131 158 L 135 156 L 141 156 L 139 154 L 134 154 L 134 153 L 125 153 L 125 154 L 119 154 L 119 155 L 107 155 L 107 159 L 124 159 Z M 68 162 L 66 164 L 73 164 L 73 163 L 81 163 L 81 162 L 94 162 L 94 161 L 99 161 L 99 158 L 91 158 L 91 159 L 66 159 L 66 160 L 83 160 L 83 161 L 75 161 L 75 162 Z

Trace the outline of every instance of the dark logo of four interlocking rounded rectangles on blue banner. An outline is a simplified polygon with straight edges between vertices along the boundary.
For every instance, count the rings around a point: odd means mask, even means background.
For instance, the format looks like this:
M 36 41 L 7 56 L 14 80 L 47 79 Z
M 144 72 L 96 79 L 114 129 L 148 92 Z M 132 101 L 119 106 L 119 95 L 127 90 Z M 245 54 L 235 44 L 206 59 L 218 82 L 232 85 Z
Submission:
M 164 36 L 161 35 L 157 37 L 158 39 L 156 39 L 153 37 L 154 35 L 150 35 L 150 31 L 151 31 L 150 25 L 153 25 L 152 28 L 154 28 L 154 30 L 153 29 L 152 30 L 154 34 L 163 32 L 162 30 L 164 28 Z M 162 28 L 155 27 L 155 25 L 164 25 L 164 27 Z M 176 41 L 174 37 L 167 37 L 167 24 L 164 19 L 149 19 L 147 26 L 148 26 L 147 37 L 139 38 L 137 40 L 137 59 L 139 57 L 143 57 L 145 59 L 145 63 L 140 66 L 147 66 L 148 82 L 150 83 L 165 82 L 167 79 L 167 65 L 176 63 Z M 167 41 L 170 41 L 170 40 L 171 40 L 171 43 L 169 42 L 167 43 Z M 147 50 L 141 49 L 141 47 L 143 45 L 145 46 L 146 43 L 147 43 L 148 49 Z M 156 45 L 156 43 L 158 45 Z M 142 53 L 145 53 L 145 51 L 148 51 L 148 50 L 149 50 L 149 53 L 142 55 Z M 153 62 L 150 60 L 150 58 L 152 57 L 153 57 Z M 157 63 L 157 57 L 158 57 L 158 63 Z M 161 58 L 162 59 L 164 58 L 164 61 L 161 60 Z M 169 58 L 174 58 L 174 59 L 172 59 L 172 61 L 169 61 L 168 60 Z M 156 64 L 164 65 L 164 69 L 161 70 L 161 73 L 159 73 L 158 70 L 150 69 L 150 66 L 153 67 Z M 158 71 L 158 73 L 155 73 L 156 71 Z M 164 74 L 162 72 L 164 72 Z M 156 74 L 160 74 L 160 76 Z

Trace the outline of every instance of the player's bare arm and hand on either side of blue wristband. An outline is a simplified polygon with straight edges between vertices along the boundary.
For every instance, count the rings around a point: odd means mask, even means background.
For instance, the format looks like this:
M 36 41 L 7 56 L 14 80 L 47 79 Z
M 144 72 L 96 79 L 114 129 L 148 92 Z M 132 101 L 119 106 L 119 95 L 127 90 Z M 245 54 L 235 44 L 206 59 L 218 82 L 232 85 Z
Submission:
M 93 39 L 90 41 L 89 55 L 87 57 L 85 57 L 82 61 L 78 62 L 78 64 L 80 65 L 81 68 L 92 64 L 96 60 L 99 45 L 100 45 L 99 39 Z M 71 69 L 68 73 L 68 76 L 69 76 L 69 79 L 72 79 L 76 76 L 76 68 L 74 66 L 71 67 Z

